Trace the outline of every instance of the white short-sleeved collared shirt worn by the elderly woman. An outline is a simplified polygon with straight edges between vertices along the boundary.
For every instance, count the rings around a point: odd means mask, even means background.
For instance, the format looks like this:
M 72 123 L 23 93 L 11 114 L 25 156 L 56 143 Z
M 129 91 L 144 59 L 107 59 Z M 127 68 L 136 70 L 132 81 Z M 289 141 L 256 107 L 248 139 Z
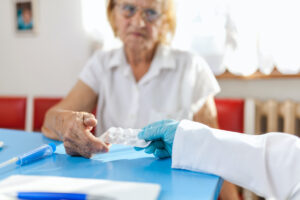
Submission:
M 135 81 L 123 48 L 97 51 L 80 79 L 99 95 L 97 135 L 108 128 L 143 128 L 162 119 L 192 119 L 220 87 L 206 62 L 169 46 L 157 48 L 148 72 Z

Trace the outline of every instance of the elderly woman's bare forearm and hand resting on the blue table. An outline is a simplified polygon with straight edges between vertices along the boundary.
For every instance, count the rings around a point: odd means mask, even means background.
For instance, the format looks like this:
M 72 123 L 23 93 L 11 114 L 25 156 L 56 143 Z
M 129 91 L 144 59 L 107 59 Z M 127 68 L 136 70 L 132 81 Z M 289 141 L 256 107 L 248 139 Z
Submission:
M 97 120 L 89 112 L 95 108 L 97 97 L 88 85 L 79 80 L 66 98 L 47 111 L 43 134 L 63 141 L 67 154 L 72 156 L 90 158 L 93 153 L 107 152 L 107 144 L 91 133 Z

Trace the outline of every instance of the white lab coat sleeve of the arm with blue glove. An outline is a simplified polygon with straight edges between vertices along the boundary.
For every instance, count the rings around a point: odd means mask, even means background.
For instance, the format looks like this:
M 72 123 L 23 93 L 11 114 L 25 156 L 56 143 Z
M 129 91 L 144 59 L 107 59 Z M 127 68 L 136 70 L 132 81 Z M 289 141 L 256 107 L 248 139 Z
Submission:
M 215 174 L 263 197 L 300 199 L 300 139 L 289 134 L 244 135 L 183 120 L 172 167 Z

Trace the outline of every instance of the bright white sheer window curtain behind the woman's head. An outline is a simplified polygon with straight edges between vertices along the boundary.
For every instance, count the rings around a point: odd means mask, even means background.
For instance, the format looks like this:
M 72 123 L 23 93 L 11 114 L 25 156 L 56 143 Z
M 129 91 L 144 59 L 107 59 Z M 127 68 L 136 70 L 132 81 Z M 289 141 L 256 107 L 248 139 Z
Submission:
M 104 0 L 82 0 L 83 23 L 102 46 L 113 37 Z M 216 75 L 300 72 L 300 12 L 297 0 L 175 0 L 177 30 L 172 46 L 194 51 Z

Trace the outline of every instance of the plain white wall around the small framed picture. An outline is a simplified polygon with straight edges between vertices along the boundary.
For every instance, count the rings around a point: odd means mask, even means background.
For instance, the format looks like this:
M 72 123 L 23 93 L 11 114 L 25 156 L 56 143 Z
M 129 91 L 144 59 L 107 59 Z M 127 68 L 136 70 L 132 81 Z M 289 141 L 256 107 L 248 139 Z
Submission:
M 64 96 L 90 55 L 81 0 L 37 1 L 38 33 L 17 34 L 14 1 L 0 1 L 0 95 Z M 31 120 L 27 121 L 27 130 Z

